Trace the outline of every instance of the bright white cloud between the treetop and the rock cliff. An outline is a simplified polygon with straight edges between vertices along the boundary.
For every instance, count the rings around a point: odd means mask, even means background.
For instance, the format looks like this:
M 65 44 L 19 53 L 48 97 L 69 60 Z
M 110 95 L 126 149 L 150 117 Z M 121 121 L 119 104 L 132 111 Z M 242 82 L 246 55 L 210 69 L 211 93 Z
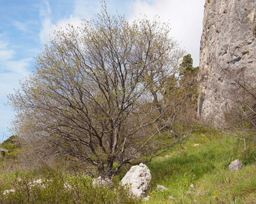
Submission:
M 170 22 L 172 37 L 181 41 L 180 47 L 192 55 L 194 66 L 199 65 L 204 0 L 137 0 L 133 5 L 133 11 L 130 21 L 142 18 L 142 15 L 146 14 L 151 20 L 158 15 L 162 22 Z

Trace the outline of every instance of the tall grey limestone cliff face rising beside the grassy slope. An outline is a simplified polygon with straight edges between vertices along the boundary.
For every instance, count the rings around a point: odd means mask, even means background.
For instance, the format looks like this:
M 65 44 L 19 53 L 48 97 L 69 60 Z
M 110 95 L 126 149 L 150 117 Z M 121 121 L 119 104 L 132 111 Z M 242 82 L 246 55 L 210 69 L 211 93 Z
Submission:
M 256 1 L 206 0 L 203 28 L 198 115 L 221 124 L 234 86 L 223 70 L 256 76 Z

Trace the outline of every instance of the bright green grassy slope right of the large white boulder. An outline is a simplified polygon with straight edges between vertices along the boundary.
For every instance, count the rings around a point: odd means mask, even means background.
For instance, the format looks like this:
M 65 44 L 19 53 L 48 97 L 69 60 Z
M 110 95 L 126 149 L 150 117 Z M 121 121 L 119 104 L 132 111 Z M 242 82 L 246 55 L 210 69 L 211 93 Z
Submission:
M 244 157 L 240 139 L 217 133 L 196 134 L 185 143 L 185 150 L 178 149 L 179 154 L 169 152 L 148 164 L 153 177 L 149 203 L 256 203 L 256 155 Z M 228 171 L 237 158 L 244 167 Z M 156 191 L 157 185 L 169 190 Z

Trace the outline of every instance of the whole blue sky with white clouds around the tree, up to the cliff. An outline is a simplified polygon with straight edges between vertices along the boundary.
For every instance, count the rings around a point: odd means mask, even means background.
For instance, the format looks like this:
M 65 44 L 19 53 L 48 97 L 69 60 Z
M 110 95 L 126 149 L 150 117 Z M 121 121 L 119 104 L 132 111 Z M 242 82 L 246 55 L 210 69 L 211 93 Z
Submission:
M 128 20 L 160 16 L 170 22 L 171 35 L 199 65 L 199 43 L 205 0 L 106 0 L 110 14 L 125 14 Z M 49 35 L 65 24 L 80 24 L 101 10 L 101 0 L 0 0 L 0 141 L 15 113 L 7 95 L 19 88 L 19 80 L 33 71 L 34 57 L 49 41 Z

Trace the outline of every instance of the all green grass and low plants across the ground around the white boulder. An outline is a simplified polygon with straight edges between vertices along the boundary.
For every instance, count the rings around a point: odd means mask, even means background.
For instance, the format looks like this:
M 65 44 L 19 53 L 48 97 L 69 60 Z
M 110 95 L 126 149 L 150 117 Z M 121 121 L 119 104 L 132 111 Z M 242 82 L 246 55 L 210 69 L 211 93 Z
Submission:
M 199 144 L 194 146 L 194 144 Z M 177 145 L 154 158 L 147 166 L 152 180 L 148 202 L 139 201 L 118 186 L 125 167 L 116 176 L 114 186 L 102 188 L 91 185 L 92 178 L 81 173 L 70 175 L 60 169 L 0 172 L 0 191 L 16 189 L 0 203 L 255 203 L 256 154 L 255 143 L 248 142 L 245 156 L 243 141 L 212 130 L 194 133 L 183 146 Z M 243 164 L 240 171 L 229 171 L 231 161 Z M 126 166 L 129 170 L 129 165 Z M 20 178 L 22 178 L 20 180 Z M 47 188 L 29 189 L 26 185 L 39 178 L 48 182 Z M 64 184 L 72 186 L 65 189 Z M 189 186 L 193 184 L 195 190 Z M 157 185 L 169 190 L 157 191 Z M 174 199 L 170 199 L 173 197 Z

